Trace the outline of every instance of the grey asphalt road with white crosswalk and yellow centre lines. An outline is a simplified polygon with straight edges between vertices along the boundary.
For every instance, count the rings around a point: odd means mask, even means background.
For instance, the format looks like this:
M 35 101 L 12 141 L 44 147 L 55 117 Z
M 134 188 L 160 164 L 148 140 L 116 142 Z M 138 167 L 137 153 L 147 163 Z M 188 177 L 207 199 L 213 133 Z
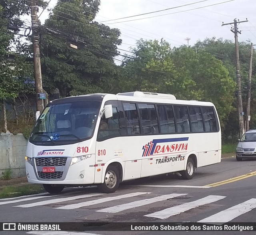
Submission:
M 199 222 L 212 225 L 216 222 L 219 222 L 218 225 L 226 222 L 255 222 L 255 172 L 256 160 L 237 162 L 235 158 L 228 158 L 220 164 L 197 169 L 192 180 L 182 180 L 179 176 L 168 174 L 123 182 L 114 194 L 99 194 L 97 188 L 89 187 L 67 188 L 60 195 L 40 194 L 1 199 L 0 221 Z M 170 233 L 197 235 L 225 232 L 94 231 L 77 235 Z M 256 234 L 256 231 L 227 233 Z M 2 234 L 60 235 L 63 232 L 8 231 Z

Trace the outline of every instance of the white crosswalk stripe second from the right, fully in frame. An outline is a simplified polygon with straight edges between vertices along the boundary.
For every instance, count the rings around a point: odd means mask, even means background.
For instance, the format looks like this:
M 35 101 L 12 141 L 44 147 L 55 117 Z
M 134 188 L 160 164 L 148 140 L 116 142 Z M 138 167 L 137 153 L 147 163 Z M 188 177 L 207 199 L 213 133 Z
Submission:
M 184 203 L 184 204 L 181 204 L 181 205 L 176 205 L 174 207 L 169 207 L 169 208 L 164 209 L 162 211 L 157 211 L 155 213 L 144 215 L 144 216 L 154 217 L 154 218 L 159 218 L 159 219 L 166 219 L 170 216 L 178 215 L 178 214 L 180 214 L 184 211 L 188 211 L 190 209 L 199 207 L 200 205 L 205 205 L 205 204 L 208 204 L 208 203 L 212 203 L 214 201 L 218 201 L 218 200 L 223 199 L 223 198 L 225 198 L 225 196 L 210 195 L 210 196 L 198 199 L 196 201 L 191 201 L 191 202 Z

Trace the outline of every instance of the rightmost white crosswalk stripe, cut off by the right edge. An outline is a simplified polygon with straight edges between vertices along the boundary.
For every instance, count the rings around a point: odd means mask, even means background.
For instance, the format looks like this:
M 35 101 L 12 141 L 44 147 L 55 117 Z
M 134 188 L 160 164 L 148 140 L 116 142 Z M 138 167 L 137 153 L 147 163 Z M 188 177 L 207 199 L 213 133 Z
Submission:
M 248 201 L 230 207 L 224 211 L 220 211 L 212 216 L 209 216 L 205 219 L 198 221 L 198 223 L 226 223 L 239 215 L 242 215 L 246 212 L 251 211 L 256 208 L 256 199 L 252 198 Z

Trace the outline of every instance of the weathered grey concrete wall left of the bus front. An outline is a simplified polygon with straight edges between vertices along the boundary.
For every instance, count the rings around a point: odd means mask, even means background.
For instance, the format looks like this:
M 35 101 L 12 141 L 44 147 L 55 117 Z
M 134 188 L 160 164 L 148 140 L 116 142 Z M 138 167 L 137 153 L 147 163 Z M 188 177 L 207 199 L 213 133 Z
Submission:
M 26 176 L 25 154 L 28 140 L 23 134 L 0 134 L 0 178 L 11 169 L 12 178 Z

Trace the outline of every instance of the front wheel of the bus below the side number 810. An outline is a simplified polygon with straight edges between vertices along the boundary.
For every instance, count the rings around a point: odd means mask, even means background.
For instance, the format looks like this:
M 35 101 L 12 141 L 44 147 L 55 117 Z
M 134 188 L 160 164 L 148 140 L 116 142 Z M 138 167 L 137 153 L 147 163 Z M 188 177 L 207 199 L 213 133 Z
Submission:
M 103 184 L 98 184 L 98 190 L 104 194 L 116 192 L 120 184 L 120 173 L 114 166 L 108 166 Z

